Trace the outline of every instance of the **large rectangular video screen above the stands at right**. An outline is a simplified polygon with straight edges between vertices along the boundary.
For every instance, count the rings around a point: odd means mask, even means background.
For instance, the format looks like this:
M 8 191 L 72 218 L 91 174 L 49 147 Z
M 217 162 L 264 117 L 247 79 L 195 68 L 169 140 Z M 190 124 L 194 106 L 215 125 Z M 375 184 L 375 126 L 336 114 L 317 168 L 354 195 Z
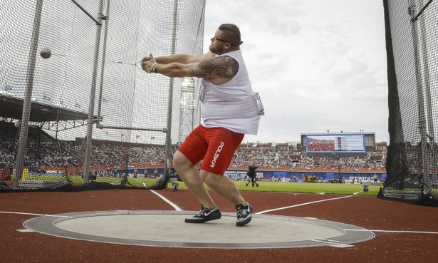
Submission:
M 365 135 L 306 135 L 306 151 L 311 153 L 365 153 Z

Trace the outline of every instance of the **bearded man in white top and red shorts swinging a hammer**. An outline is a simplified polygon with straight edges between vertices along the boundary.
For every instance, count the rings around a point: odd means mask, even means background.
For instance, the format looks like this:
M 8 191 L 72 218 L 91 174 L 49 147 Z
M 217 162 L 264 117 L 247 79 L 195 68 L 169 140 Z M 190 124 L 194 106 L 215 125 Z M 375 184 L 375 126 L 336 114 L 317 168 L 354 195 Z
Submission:
M 204 183 L 236 206 L 236 226 L 251 222 L 253 207 L 241 196 L 231 178 L 224 176 L 245 134 L 256 135 L 264 108 L 254 93 L 242 53 L 239 28 L 222 24 L 211 38 L 209 52 L 197 56 L 178 54 L 142 59 L 147 73 L 171 78 L 202 78 L 202 123 L 174 154 L 173 165 L 187 188 L 201 203 L 201 210 L 187 223 L 221 218 Z M 202 160 L 201 170 L 194 166 Z

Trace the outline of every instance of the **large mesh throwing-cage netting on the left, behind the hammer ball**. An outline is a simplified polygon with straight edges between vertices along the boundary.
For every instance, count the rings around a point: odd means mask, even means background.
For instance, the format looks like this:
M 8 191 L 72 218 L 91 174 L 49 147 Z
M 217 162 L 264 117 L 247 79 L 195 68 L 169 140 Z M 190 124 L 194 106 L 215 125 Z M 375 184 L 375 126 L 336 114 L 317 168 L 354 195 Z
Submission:
M 0 1 L 0 189 L 167 187 L 199 104 L 139 62 L 202 53 L 204 13 L 199 0 Z

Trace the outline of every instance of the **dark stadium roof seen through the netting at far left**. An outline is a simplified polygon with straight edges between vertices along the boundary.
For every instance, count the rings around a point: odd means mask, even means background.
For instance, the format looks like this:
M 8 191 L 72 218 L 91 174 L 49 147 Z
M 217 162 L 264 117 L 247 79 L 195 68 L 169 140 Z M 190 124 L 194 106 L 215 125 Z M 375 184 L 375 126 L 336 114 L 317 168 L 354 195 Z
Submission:
M 12 96 L 0 95 L 0 117 L 21 120 L 24 100 Z M 96 117 L 97 118 L 97 117 Z M 88 114 L 42 103 L 32 103 L 31 122 L 56 120 L 87 120 Z

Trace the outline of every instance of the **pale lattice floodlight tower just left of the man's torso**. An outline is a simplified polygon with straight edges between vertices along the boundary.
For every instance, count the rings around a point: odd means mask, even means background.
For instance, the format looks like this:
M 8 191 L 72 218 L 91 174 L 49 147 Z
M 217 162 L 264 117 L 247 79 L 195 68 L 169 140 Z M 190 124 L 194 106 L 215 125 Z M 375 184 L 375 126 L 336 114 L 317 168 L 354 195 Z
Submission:
M 196 105 L 194 100 L 195 86 L 193 78 L 182 78 L 181 99 L 179 100 L 178 144 L 181 144 L 194 129 L 194 110 Z

